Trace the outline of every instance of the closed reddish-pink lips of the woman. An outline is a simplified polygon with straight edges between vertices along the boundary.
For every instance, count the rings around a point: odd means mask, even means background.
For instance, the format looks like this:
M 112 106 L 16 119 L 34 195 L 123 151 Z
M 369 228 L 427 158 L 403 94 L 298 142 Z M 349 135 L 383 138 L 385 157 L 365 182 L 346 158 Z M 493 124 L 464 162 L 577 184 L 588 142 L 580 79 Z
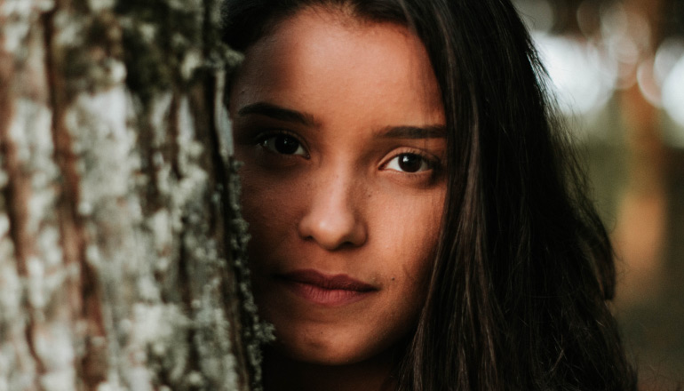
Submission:
M 348 275 L 324 275 L 312 269 L 278 275 L 278 279 L 299 297 L 323 306 L 337 307 L 364 299 L 376 287 Z

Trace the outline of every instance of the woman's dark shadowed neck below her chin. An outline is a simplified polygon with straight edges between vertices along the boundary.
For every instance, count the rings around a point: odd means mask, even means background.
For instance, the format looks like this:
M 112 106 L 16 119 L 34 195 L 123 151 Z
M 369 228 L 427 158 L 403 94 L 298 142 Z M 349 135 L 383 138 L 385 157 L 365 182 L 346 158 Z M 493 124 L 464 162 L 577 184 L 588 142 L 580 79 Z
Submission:
M 302 363 L 281 355 L 273 348 L 264 352 L 266 391 L 392 391 L 396 363 L 394 349 L 361 363 L 323 365 Z

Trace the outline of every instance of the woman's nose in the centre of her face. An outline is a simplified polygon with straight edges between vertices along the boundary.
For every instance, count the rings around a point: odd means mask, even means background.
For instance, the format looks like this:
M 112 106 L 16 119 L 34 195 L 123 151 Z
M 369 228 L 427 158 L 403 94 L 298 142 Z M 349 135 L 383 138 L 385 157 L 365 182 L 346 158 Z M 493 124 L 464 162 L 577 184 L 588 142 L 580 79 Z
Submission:
M 368 232 L 359 200 L 355 198 L 358 192 L 354 192 L 350 181 L 339 177 L 322 182 L 314 186 L 306 213 L 299 220 L 299 236 L 329 251 L 361 246 L 368 239 Z

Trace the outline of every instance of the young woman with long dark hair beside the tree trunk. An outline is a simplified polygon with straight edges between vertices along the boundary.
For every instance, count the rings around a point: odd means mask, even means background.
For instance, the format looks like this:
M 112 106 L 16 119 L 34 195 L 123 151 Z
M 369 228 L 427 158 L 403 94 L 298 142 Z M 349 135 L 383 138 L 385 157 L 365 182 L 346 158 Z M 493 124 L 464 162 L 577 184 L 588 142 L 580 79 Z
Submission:
M 608 237 L 504 0 L 228 0 L 267 390 L 626 390 Z

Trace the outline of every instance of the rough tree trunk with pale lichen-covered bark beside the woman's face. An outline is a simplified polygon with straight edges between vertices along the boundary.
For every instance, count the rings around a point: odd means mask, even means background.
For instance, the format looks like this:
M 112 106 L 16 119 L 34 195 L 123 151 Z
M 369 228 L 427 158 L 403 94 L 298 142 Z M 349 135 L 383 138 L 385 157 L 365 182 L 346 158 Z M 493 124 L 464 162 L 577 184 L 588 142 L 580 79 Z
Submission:
M 0 391 L 258 388 L 219 0 L 0 0 Z

